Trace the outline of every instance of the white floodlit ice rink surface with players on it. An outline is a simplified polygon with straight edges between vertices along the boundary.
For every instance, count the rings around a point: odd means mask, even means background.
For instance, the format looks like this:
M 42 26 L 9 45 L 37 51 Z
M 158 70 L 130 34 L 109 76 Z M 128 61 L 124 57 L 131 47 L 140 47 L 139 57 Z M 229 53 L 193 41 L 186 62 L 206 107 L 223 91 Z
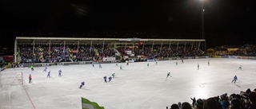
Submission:
M 208 65 L 208 60 L 210 65 Z M 178 62 L 178 65 L 175 64 Z M 147 63 L 150 66 L 147 67 Z M 198 69 L 198 64 L 200 68 Z M 123 66 L 120 70 L 119 66 Z M 242 70 L 238 70 L 242 65 Z M 81 109 L 81 97 L 98 103 L 105 109 L 166 109 L 172 103 L 189 102 L 190 97 L 207 99 L 227 93 L 239 93 L 256 84 L 256 61 L 242 59 L 190 59 L 102 64 L 58 65 L 8 68 L 1 72 L 1 109 Z M 58 70 L 62 69 L 62 77 Z M 16 72 L 24 73 L 23 85 L 10 85 Z M 167 72 L 171 77 L 166 78 Z M 110 83 L 103 76 L 116 73 Z M 32 84 L 28 76 L 32 75 Z M 236 84 L 231 84 L 234 76 Z M 85 81 L 85 87 L 79 85 Z

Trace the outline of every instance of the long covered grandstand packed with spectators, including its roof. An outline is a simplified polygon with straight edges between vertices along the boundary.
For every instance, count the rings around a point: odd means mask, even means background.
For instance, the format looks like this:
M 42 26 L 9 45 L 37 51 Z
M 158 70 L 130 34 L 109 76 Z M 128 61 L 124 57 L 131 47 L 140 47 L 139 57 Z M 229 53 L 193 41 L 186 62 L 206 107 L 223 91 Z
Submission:
M 16 37 L 15 62 L 42 63 L 102 60 L 103 57 L 148 58 L 198 56 L 204 54 L 195 39 Z M 193 52 L 192 52 L 193 51 Z M 130 53 L 130 54 L 127 54 Z M 120 56 L 118 56 L 118 54 Z M 121 57 L 122 58 L 122 57 Z

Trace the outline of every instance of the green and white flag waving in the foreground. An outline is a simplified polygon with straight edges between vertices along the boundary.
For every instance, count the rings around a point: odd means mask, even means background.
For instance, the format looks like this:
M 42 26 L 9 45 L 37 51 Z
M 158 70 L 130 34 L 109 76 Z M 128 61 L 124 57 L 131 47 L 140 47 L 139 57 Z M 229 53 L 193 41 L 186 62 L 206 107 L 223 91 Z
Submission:
M 105 109 L 98 106 L 98 103 L 90 102 L 90 100 L 82 98 L 82 109 Z

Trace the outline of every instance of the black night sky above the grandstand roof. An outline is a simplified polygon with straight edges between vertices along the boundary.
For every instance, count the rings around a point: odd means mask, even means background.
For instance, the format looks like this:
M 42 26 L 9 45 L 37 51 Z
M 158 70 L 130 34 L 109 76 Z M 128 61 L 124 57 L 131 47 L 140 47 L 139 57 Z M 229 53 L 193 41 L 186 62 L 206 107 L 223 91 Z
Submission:
M 200 0 L 2 0 L 0 46 L 14 37 L 199 39 Z M 207 48 L 255 44 L 255 0 L 205 0 Z

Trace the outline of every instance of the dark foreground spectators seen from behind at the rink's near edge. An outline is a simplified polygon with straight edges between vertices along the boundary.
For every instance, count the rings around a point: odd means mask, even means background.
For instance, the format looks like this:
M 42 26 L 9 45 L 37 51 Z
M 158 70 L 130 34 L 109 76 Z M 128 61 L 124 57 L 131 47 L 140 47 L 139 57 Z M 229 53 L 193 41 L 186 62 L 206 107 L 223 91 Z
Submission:
M 248 88 L 239 94 L 225 93 L 208 99 L 190 99 L 192 103 L 173 103 L 166 109 L 256 109 L 256 88 L 253 91 Z

